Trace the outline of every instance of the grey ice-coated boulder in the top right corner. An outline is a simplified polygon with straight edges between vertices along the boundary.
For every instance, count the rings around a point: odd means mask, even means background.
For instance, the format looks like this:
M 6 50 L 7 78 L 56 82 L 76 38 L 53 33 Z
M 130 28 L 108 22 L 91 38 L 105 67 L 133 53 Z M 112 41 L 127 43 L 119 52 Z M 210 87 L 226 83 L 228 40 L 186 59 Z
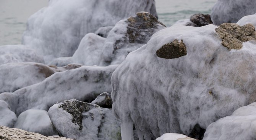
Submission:
M 218 0 L 211 10 L 214 25 L 237 23 L 243 16 L 256 13 L 255 0 Z

